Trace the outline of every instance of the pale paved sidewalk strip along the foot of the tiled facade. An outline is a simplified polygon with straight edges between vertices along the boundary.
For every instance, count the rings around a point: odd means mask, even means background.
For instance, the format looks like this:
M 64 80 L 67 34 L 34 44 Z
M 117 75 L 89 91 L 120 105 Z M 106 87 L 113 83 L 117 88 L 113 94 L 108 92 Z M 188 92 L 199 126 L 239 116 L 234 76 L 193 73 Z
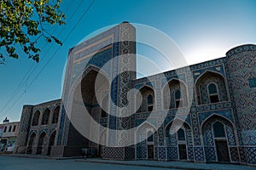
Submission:
M 97 158 L 77 159 L 76 161 L 84 161 L 91 163 L 109 163 L 127 166 L 141 166 L 141 167 L 161 167 L 161 168 L 176 168 L 176 169 L 191 169 L 191 170 L 256 170 L 256 167 L 234 164 L 220 164 L 220 163 L 194 163 L 188 161 L 114 161 L 102 160 Z

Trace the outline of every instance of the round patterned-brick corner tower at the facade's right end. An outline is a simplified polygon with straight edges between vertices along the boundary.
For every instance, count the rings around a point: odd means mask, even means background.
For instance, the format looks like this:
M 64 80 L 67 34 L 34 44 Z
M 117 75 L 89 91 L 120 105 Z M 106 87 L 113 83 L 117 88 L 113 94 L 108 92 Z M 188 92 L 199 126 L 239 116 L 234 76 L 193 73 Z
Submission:
M 240 125 L 241 161 L 256 160 L 256 45 L 246 44 L 226 53 L 233 106 Z M 255 162 L 254 162 L 255 163 Z

